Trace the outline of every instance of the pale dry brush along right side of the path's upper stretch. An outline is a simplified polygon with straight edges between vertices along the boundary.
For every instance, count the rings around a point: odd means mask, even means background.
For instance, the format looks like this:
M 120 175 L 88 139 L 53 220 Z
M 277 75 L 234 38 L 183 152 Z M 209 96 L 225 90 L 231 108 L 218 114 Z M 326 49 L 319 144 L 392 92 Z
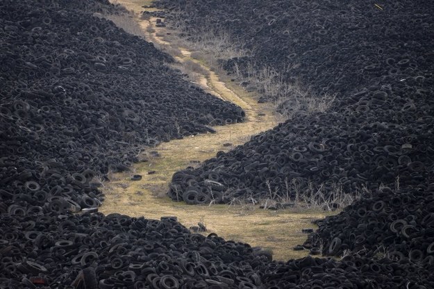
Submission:
M 237 57 L 252 56 L 253 51 L 244 47 L 244 44 L 234 39 L 225 31 L 216 30 L 212 25 L 204 24 L 203 27 L 191 31 L 187 28 L 182 15 L 172 11 L 171 24 L 176 31 L 169 35 L 162 35 L 165 42 L 171 42 L 181 47 L 188 47 L 191 57 L 201 60 L 212 67 L 213 71 L 221 71 L 221 61 Z M 176 33 L 176 32 L 190 33 Z M 309 88 L 303 87 L 301 83 L 288 83 L 283 74 L 290 69 L 297 67 L 298 63 L 287 63 L 283 65 L 282 71 L 269 66 L 262 66 L 251 62 L 244 68 L 236 65 L 233 67 L 233 76 L 238 83 L 249 83 L 249 88 L 260 92 L 261 96 L 274 104 L 276 111 L 281 115 L 281 121 L 292 119 L 295 113 L 324 112 L 331 108 L 335 95 L 325 94 L 318 96 L 312 94 Z

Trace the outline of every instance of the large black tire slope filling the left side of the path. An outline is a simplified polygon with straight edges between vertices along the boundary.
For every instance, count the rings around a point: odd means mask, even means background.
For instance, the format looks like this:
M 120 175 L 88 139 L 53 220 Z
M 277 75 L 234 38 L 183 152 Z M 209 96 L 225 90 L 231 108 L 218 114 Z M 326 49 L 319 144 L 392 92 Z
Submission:
M 243 121 L 153 44 L 92 16 L 103 11 L 116 9 L 1 1 L 0 213 L 97 207 L 94 176 L 128 170 L 144 147 Z

